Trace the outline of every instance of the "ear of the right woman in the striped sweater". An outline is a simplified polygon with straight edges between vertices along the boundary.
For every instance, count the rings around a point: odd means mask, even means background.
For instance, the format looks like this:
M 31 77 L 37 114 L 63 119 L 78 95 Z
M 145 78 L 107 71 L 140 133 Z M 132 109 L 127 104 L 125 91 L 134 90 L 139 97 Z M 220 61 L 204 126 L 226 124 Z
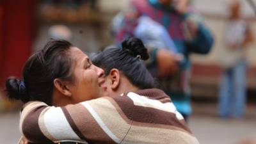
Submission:
M 120 72 L 116 68 L 112 68 L 109 72 L 110 88 L 115 91 L 120 85 Z

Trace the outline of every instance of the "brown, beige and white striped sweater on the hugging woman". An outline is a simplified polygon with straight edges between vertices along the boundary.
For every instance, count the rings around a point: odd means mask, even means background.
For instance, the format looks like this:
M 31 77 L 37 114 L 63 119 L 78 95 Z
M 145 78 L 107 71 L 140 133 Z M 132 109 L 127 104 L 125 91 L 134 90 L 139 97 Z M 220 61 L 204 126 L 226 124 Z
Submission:
M 198 143 L 168 95 L 158 89 L 64 107 L 29 102 L 20 115 L 20 131 L 35 143 Z

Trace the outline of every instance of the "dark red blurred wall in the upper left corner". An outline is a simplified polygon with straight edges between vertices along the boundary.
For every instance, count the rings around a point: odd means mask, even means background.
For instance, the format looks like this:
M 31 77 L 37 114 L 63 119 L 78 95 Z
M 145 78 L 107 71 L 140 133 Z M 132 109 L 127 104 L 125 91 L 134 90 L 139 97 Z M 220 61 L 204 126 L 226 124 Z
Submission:
M 33 43 L 34 0 L 1 0 L 0 87 L 9 76 L 20 77 Z

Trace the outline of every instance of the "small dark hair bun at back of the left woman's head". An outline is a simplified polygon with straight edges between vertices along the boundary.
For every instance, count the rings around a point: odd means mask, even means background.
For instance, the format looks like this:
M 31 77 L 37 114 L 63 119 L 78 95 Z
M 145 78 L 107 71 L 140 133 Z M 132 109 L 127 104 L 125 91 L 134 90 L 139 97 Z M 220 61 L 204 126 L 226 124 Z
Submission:
M 6 92 L 10 99 L 22 100 L 22 102 L 28 102 L 29 96 L 27 94 L 26 86 L 22 84 L 16 77 L 10 77 L 5 82 Z

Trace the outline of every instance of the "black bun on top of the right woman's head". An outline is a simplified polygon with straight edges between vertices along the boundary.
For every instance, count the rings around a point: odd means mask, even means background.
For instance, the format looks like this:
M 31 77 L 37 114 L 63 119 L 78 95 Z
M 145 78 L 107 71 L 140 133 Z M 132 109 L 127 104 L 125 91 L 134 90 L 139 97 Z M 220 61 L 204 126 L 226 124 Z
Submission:
M 142 60 L 148 60 L 147 49 L 140 38 L 130 37 L 122 42 L 122 48 L 131 51 L 134 57 L 140 55 Z

